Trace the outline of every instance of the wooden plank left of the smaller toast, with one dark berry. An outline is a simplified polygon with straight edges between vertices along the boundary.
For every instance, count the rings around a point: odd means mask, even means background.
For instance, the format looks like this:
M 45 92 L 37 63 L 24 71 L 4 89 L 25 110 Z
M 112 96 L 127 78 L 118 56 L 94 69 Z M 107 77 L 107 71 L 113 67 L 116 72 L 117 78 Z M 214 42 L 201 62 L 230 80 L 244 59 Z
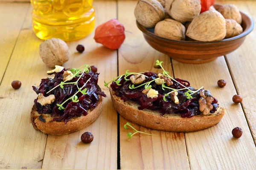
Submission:
M 26 21 L 0 86 L 0 168 L 41 168 L 44 158 L 47 136 L 35 130 L 30 122 L 37 96 L 31 86 L 39 85 L 48 68 L 39 58 L 38 46 L 42 41 L 35 37 L 31 23 Z M 11 40 L 12 36 L 8 36 L 7 40 Z M 12 88 L 13 80 L 22 82 L 20 89 Z

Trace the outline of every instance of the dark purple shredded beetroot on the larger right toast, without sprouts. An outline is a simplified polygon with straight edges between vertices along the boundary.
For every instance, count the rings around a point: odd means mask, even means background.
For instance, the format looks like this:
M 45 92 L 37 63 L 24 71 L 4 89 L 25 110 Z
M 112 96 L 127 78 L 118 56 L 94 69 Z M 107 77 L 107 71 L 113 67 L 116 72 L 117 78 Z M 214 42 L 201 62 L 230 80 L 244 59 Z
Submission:
M 149 82 L 153 79 L 157 78 L 157 74 L 154 72 L 145 72 L 145 76 L 148 78 L 145 79 L 145 82 Z M 130 76 L 127 77 L 130 78 Z M 196 91 L 194 88 L 190 87 L 190 83 L 187 80 L 183 79 L 175 79 L 177 82 L 180 82 L 187 88 L 189 88 L 192 91 Z M 182 85 L 180 85 L 177 82 L 173 82 L 173 85 L 170 86 L 170 88 L 174 89 L 182 89 L 184 88 Z M 116 96 L 121 97 L 121 99 L 125 102 L 127 100 L 132 100 L 140 105 L 138 109 L 150 109 L 150 110 L 159 110 L 160 116 L 163 116 L 164 114 L 170 114 L 170 113 L 180 113 L 181 117 L 192 117 L 194 115 L 201 114 L 201 111 L 199 111 L 199 103 L 198 100 L 201 98 L 199 91 L 195 94 L 192 94 L 192 99 L 187 99 L 185 96 L 185 92 L 187 90 L 177 91 L 178 92 L 178 99 L 179 104 L 175 104 L 172 102 L 170 96 L 166 96 L 166 102 L 163 100 L 163 96 L 166 93 L 169 93 L 172 91 L 171 89 L 162 89 L 161 85 L 157 85 L 155 82 L 152 82 L 150 85 L 151 88 L 158 91 L 158 97 L 157 98 L 148 98 L 145 94 L 142 93 L 144 90 L 144 86 L 130 89 L 129 85 L 131 85 L 131 81 L 125 81 L 124 77 L 121 78 L 121 81 L 119 82 L 121 85 L 117 85 L 116 82 L 112 82 L 111 88 L 115 92 Z M 210 113 L 215 113 L 218 107 L 218 100 L 214 98 L 214 101 L 212 102 L 213 109 L 210 111 Z

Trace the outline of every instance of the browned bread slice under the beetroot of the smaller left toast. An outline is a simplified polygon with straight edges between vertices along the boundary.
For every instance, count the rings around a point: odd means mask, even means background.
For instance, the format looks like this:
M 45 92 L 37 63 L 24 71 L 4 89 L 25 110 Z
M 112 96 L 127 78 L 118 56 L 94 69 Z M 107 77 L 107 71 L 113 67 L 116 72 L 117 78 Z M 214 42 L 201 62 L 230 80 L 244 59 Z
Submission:
M 67 122 L 67 124 L 65 124 L 64 122 L 53 121 L 53 117 L 49 114 L 39 114 L 36 111 L 35 105 L 33 105 L 31 111 L 31 122 L 35 129 L 41 130 L 46 134 L 68 134 L 89 126 L 99 117 L 101 110 L 102 96 L 99 96 L 99 102 L 97 103 L 96 108 L 89 110 L 86 116 L 81 115 L 80 117 L 72 118 Z

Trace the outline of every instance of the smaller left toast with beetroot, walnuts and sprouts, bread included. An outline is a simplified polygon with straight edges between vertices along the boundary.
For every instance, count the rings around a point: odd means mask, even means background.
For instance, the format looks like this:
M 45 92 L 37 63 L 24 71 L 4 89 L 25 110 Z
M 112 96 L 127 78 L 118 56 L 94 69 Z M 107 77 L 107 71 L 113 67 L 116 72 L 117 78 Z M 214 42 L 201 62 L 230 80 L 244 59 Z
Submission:
M 53 79 L 41 79 L 38 94 L 31 111 L 35 129 L 47 134 L 73 133 L 87 127 L 99 116 L 102 96 L 106 94 L 98 86 L 99 73 L 84 65 L 78 69 L 55 66 L 47 74 Z

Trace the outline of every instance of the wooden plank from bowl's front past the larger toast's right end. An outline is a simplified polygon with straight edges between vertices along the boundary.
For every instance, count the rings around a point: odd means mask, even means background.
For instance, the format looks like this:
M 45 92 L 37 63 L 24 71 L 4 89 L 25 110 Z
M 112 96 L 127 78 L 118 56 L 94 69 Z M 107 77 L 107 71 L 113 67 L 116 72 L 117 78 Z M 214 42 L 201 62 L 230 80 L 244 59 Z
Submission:
M 256 148 L 241 105 L 232 102 L 236 89 L 224 57 L 201 65 L 173 61 L 173 68 L 175 77 L 189 80 L 195 88 L 204 85 L 218 99 L 219 105 L 227 109 L 218 125 L 185 133 L 191 169 L 254 169 Z M 227 85 L 219 88 L 218 79 L 225 79 Z M 242 128 L 241 138 L 232 137 L 231 131 L 234 127 Z

